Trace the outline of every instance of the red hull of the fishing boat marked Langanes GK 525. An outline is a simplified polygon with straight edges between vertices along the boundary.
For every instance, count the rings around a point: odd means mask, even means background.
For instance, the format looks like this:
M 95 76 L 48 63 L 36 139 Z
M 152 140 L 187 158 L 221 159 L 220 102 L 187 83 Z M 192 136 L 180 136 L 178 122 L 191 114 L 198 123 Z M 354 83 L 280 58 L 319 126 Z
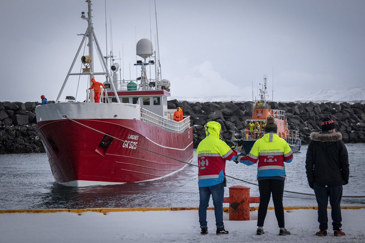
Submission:
M 76 121 L 181 161 L 189 162 L 193 157 L 192 128 L 184 133 L 173 133 L 132 119 Z M 74 181 L 87 181 L 81 185 L 118 184 L 154 180 L 186 165 L 116 139 L 102 146 L 104 134 L 70 120 L 39 121 L 38 129 L 52 174 L 55 181 L 61 184 Z

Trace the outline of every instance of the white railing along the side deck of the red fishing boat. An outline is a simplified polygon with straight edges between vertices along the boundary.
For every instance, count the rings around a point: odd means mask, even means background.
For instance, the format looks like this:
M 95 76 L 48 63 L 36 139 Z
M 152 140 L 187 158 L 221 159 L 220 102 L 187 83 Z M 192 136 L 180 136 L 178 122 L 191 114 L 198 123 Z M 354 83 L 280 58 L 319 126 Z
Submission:
M 184 118 L 182 121 L 176 122 L 143 108 L 141 108 L 141 120 L 174 133 L 183 133 L 190 128 L 190 116 Z

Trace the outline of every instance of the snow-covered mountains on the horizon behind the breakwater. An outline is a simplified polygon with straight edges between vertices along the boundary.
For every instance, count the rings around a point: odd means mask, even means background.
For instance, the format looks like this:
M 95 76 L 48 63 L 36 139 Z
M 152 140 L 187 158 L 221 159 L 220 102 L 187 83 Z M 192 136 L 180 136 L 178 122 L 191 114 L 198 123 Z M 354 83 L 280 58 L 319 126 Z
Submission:
M 169 97 L 168 100 L 177 99 L 178 101 L 194 102 L 245 102 L 251 101 L 252 97 L 243 96 L 210 96 L 210 97 Z M 318 90 L 311 94 L 302 95 L 295 100 L 281 101 L 281 102 L 293 102 L 293 101 L 364 101 L 365 100 L 365 87 L 347 88 L 344 90 Z M 277 100 L 275 100 L 277 101 Z M 277 101 L 278 102 L 278 101 Z

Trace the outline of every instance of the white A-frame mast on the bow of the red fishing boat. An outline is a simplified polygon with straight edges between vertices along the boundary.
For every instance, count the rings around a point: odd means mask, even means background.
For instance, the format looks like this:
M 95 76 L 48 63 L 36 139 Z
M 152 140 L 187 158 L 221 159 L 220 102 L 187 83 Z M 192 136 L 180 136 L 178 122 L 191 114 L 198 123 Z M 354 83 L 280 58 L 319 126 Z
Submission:
M 96 39 L 96 35 L 95 35 L 94 29 L 92 27 L 92 15 L 91 15 L 91 12 L 92 12 L 91 5 L 92 4 L 91 4 L 91 1 L 90 0 L 87 0 L 86 2 L 88 3 L 88 17 L 85 17 L 85 12 L 82 12 L 81 13 L 81 19 L 85 19 L 85 20 L 88 21 L 88 28 L 85 31 L 84 37 L 82 38 L 81 44 L 78 47 L 78 50 L 77 50 L 76 55 L 75 55 L 75 58 L 73 59 L 73 62 L 71 64 L 71 67 L 70 67 L 70 69 L 69 69 L 69 71 L 68 71 L 68 73 L 66 75 L 66 79 L 65 79 L 65 81 L 64 81 L 64 83 L 63 83 L 63 85 L 61 87 L 61 90 L 59 91 L 59 94 L 57 96 L 57 99 L 56 99 L 55 103 L 57 103 L 58 100 L 59 100 L 59 97 L 61 97 L 62 91 L 64 90 L 64 87 L 65 87 L 65 85 L 67 83 L 67 80 L 68 80 L 68 78 L 69 78 L 70 75 L 89 75 L 89 80 L 91 80 L 94 77 L 94 75 L 105 75 L 105 74 L 108 75 L 108 78 L 110 80 L 110 84 L 112 86 L 112 89 L 114 91 L 114 95 L 116 97 L 116 100 L 117 100 L 118 103 L 120 103 L 118 94 L 116 92 L 116 89 L 114 87 L 114 83 L 112 82 L 112 78 L 111 78 L 110 72 L 108 70 L 107 63 L 105 62 L 104 58 L 101 58 L 101 60 L 103 61 L 103 64 L 102 65 L 105 67 L 105 72 L 94 72 L 94 63 L 93 63 L 93 54 L 94 54 L 94 52 L 93 52 L 93 40 L 95 40 L 95 44 L 96 44 L 96 47 L 97 47 L 96 49 L 99 52 L 100 56 L 103 56 L 103 53 L 101 52 L 101 49 L 100 49 L 100 46 L 99 46 L 99 42 Z M 85 71 L 85 72 L 83 71 L 81 73 L 71 73 L 72 68 L 73 68 L 73 66 L 74 66 L 74 64 L 76 62 L 76 59 L 78 57 L 78 54 L 80 53 L 81 47 L 84 44 L 84 41 L 85 41 L 86 37 L 89 38 L 89 43 L 88 43 L 88 46 L 89 46 L 89 56 L 91 57 L 91 62 L 89 62 L 89 64 L 90 64 L 90 66 L 89 66 L 90 68 L 89 69 L 90 70 L 89 71 Z M 85 56 L 83 56 L 82 58 L 84 58 L 84 57 Z

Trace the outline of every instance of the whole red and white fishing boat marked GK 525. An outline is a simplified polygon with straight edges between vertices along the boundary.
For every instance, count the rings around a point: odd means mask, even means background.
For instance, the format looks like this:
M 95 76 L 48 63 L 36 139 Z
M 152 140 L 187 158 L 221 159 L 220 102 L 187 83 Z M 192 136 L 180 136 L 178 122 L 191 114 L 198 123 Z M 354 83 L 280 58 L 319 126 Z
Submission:
M 86 2 L 88 17 L 82 12 L 81 18 L 88 21 L 88 28 L 61 91 L 55 103 L 36 108 L 38 134 L 55 181 L 75 187 L 122 184 L 157 180 L 183 169 L 193 158 L 190 117 L 180 122 L 171 119 L 170 82 L 161 80 L 160 65 L 155 67 L 155 78 L 147 79 L 146 67 L 157 66 L 151 41 L 137 43 L 137 55 L 143 59 L 135 64 L 141 66 L 140 78 L 118 79 L 119 64 L 113 63 L 109 72 L 103 58 L 104 71 L 95 72 L 94 42 L 98 55 L 103 54 L 92 27 L 91 1 Z M 81 58 L 85 68 L 73 73 L 87 39 L 89 55 Z M 93 90 L 87 90 L 85 102 L 73 97 L 59 101 L 70 75 L 89 75 L 89 81 L 95 75 L 107 76 L 100 102 L 94 102 Z

